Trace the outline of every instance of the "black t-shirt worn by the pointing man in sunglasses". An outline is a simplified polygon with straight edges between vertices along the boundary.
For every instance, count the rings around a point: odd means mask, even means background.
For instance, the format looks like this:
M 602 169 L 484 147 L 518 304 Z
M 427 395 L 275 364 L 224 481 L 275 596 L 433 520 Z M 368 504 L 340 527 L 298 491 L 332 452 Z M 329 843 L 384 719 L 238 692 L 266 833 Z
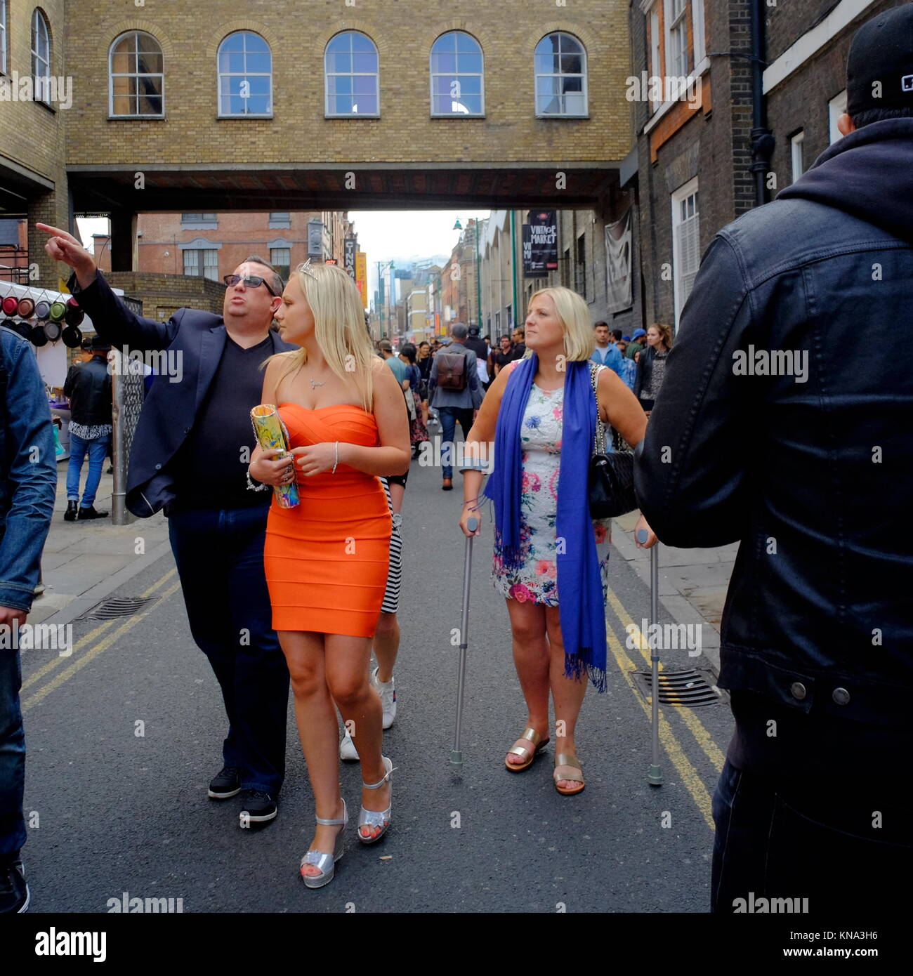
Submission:
M 271 491 L 247 488 L 247 466 L 241 450 L 253 452 L 256 438 L 250 412 L 260 403 L 263 370 L 272 352 L 268 336 L 242 348 L 226 337 L 222 359 L 187 440 L 171 461 L 175 504 L 180 508 L 247 508 L 269 505 Z

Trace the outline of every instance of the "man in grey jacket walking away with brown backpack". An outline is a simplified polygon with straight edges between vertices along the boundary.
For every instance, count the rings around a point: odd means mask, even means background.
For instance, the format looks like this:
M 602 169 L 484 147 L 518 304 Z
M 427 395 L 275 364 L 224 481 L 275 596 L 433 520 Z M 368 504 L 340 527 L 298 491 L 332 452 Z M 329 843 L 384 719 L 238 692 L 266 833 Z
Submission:
M 443 491 L 453 490 L 453 434 L 457 421 L 463 430 L 463 439 L 476 420 L 481 406 L 482 389 L 478 382 L 477 357 L 472 349 L 466 347 L 469 330 L 462 322 L 450 326 L 451 342 L 443 346 L 435 356 L 428 389 L 431 405 L 440 419 L 443 440 L 440 445 L 441 473 Z

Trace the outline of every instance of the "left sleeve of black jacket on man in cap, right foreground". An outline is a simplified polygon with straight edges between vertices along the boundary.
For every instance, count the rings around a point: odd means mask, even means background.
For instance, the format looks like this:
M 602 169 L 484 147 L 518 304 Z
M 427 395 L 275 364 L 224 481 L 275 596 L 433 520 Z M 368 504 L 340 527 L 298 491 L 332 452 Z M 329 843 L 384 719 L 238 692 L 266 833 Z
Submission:
M 751 327 L 751 291 L 718 235 L 694 279 L 663 386 L 635 452 L 635 487 L 659 540 L 725 546 L 743 535 L 753 411 L 733 371 Z

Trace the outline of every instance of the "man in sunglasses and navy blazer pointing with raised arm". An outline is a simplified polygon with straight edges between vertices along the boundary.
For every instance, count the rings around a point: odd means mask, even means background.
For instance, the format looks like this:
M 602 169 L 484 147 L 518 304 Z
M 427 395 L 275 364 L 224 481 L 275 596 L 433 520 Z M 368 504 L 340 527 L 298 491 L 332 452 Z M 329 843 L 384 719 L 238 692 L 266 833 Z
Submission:
M 141 517 L 163 508 L 168 516 L 190 631 L 222 688 L 228 736 L 208 795 L 228 799 L 243 790 L 240 826 L 270 821 L 285 772 L 289 677 L 263 568 L 272 493 L 255 485 L 247 468 L 260 366 L 295 348 L 270 328 L 282 279 L 251 257 L 226 276 L 222 315 L 179 308 L 156 322 L 114 295 L 72 234 L 36 226 L 52 235 L 48 254 L 73 268 L 70 291 L 104 340 L 122 355 L 126 346 L 131 357 L 135 350 L 167 349 L 167 362 L 178 367 L 158 375 L 145 398 L 127 508 Z

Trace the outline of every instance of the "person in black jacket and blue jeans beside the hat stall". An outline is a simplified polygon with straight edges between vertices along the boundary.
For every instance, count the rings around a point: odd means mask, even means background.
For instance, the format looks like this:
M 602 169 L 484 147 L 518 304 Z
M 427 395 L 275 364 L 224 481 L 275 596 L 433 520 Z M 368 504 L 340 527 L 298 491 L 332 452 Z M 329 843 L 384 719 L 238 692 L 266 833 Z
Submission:
M 104 459 L 111 444 L 111 377 L 107 370 L 110 344 L 103 340 L 87 339 L 83 348 L 92 353 L 86 362 L 73 363 L 63 383 L 63 393 L 69 400 L 69 467 L 66 468 L 67 522 L 104 518 L 106 511 L 97 511 L 95 496 L 102 480 Z M 79 479 L 82 463 L 89 455 L 89 474 L 79 504 Z

